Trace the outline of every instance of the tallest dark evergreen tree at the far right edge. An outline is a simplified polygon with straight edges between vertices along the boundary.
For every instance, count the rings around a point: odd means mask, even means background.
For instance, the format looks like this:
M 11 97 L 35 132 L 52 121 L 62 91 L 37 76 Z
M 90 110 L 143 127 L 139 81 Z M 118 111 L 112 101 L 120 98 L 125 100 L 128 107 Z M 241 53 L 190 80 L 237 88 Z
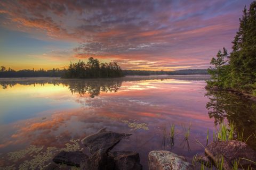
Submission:
M 244 7 L 230 54 L 231 87 L 250 91 L 256 82 L 256 1 Z

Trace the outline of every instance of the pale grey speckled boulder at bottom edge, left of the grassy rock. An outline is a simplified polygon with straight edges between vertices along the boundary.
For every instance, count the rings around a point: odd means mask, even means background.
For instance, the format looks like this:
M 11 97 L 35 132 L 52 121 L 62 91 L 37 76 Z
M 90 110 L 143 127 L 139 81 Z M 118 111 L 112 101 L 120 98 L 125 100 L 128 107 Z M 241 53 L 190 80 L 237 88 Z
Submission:
M 167 150 L 153 150 L 148 154 L 149 170 L 193 169 L 187 160 Z

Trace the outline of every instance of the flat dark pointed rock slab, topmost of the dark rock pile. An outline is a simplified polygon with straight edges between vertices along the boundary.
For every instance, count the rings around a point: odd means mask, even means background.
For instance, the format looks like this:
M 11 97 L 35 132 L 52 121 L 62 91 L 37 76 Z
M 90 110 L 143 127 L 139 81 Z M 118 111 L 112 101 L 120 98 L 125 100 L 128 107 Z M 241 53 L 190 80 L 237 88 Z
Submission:
M 107 151 L 112 149 L 123 138 L 129 137 L 130 135 L 131 134 L 106 131 L 106 128 L 103 128 L 97 133 L 85 137 L 82 140 L 82 144 L 89 149 L 91 154 L 95 154 L 95 152 L 100 149 L 107 149 Z

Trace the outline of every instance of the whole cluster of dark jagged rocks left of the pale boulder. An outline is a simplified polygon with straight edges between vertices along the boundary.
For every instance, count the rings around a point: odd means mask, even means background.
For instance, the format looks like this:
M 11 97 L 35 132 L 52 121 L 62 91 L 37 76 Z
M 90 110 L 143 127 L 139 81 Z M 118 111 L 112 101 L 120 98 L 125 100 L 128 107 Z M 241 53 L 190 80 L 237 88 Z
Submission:
M 117 143 L 131 134 L 116 133 L 100 129 L 97 133 L 85 137 L 81 142 L 89 149 L 92 156 L 82 151 L 61 151 L 53 158 L 57 164 L 66 164 L 80 167 L 81 170 L 141 170 L 140 156 L 133 151 L 114 151 Z M 47 167 L 47 170 L 58 169 L 56 164 Z

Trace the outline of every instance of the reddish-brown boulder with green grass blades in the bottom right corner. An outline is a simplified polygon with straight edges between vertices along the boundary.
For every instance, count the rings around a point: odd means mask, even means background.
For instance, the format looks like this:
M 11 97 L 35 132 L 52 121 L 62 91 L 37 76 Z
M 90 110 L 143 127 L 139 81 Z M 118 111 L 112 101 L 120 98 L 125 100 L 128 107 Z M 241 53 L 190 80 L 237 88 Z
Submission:
M 239 158 L 256 162 L 256 151 L 246 145 L 246 143 L 238 140 L 213 142 L 207 146 L 204 151 L 215 164 L 220 162 L 223 155 L 224 169 L 226 170 L 231 169 L 231 165 L 233 165 L 235 160 L 238 161 Z M 245 159 L 239 160 L 239 164 L 243 167 L 247 167 L 246 165 L 251 164 L 251 162 Z

